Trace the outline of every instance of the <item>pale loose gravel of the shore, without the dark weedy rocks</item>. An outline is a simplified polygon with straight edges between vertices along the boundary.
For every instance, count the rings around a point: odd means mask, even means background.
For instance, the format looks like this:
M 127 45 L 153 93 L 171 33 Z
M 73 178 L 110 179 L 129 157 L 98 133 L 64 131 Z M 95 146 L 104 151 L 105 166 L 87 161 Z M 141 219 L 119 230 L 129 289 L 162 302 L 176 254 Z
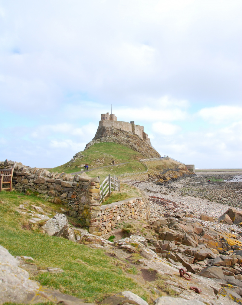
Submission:
M 214 174 L 214 173 L 212 173 Z M 218 174 L 218 173 L 217 173 Z M 231 173 L 226 174 L 223 173 L 223 178 L 231 179 L 233 178 L 233 175 Z M 226 201 L 223 201 L 219 199 L 222 203 L 211 201 L 211 198 L 209 198 L 209 193 L 206 194 L 208 198 L 199 198 L 194 196 L 188 196 L 184 195 L 183 192 L 181 192 L 181 189 L 184 189 L 184 186 L 192 185 L 192 191 L 191 193 L 195 193 L 197 195 L 197 190 L 201 192 L 201 189 L 204 189 L 205 191 L 207 188 L 211 188 L 212 184 L 216 184 L 215 187 L 217 187 L 217 182 L 211 182 L 210 184 L 201 182 L 201 179 L 204 181 L 207 181 L 209 177 L 211 176 L 210 173 L 199 173 L 197 178 L 184 178 L 180 179 L 178 181 L 172 182 L 169 185 L 156 185 L 153 181 L 146 180 L 146 181 L 137 181 L 137 180 L 130 180 L 126 179 L 122 182 L 125 182 L 129 185 L 134 185 L 137 188 L 141 189 L 145 192 L 147 196 L 150 197 L 150 210 L 151 210 L 151 217 L 152 218 L 164 218 L 169 217 L 170 215 L 174 213 L 181 213 L 183 211 L 193 212 L 194 218 L 196 221 L 204 224 L 205 226 L 209 226 L 210 228 L 214 229 L 222 229 L 222 230 L 234 230 L 235 232 L 239 233 L 242 232 L 242 229 L 238 227 L 237 225 L 227 225 L 227 224 L 219 224 L 217 221 L 214 223 L 209 221 L 201 221 L 199 219 L 201 214 L 208 214 L 209 216 L 218 218 L 223 213 L 225 213 L 231 206 L 231 202 L 229 204 L 223 203 Z M 213 176 L 214 177 L 214 176 Z M 217 176 L 216 178 L 220 179 L 221 176 Z M 235 187 L 236 184 L 236 187 Z M 212 185 L 212 187 L 214 186 Z M 222 185 L 222 186 L 221 186 Z M 233 194 L 235 198 L 239 198 L 239 203 L 241 198 L 238 197 L 238 195 L 241 196 L 242 191 L 242 182 L 219 182 L 219 186 L 222 190 L 224 190 L 224 185 L 226 185 L 226 194 L 229 194 L 230 199 L 227 201 L 233 200 Z M 211 192 L 212 196 L 214 196 L 214 193 Z M 240 205 L 240 204 L 239 204 Z M 242 211 L 238 205 L 236 205 L 236 209 Z

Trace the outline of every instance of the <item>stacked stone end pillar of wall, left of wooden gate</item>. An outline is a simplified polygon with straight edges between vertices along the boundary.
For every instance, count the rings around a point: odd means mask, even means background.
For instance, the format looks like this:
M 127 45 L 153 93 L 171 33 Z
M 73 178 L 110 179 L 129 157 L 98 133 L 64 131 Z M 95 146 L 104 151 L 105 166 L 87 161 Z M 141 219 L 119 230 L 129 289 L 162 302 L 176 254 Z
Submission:
M 98 177 L 91 179 L 87 187 L 87 200 L 89 203 L 89 209 L 86 224 L 89 226 L 89 232 L 98 236 L 101 236 L 100 192 L 100 181 Z

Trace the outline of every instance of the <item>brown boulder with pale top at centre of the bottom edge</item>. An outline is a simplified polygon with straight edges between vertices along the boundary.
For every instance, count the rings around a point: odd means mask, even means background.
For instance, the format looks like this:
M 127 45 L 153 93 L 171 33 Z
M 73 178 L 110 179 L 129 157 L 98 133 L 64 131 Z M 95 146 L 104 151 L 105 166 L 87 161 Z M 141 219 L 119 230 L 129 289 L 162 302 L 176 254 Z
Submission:
M 148 305 L 148 303 L 143 299 L 141 299 L 141 297 L 137 296 L 137 294 L 134 294 L 133 292 L 130 291 L 119 292 L 114 296 L 110 296 L 109 298 L 101 302 L 101 304 L 107 304 L 107 305 L 123 305 L 124 303 Z

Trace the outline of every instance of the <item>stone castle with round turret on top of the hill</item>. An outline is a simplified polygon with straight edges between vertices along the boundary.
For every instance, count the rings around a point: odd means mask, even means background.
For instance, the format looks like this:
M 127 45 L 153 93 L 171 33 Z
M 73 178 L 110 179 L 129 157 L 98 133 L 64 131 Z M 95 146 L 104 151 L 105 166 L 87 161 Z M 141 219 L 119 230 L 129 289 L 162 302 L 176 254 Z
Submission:
M 124 131 L 132 132 L 151 145 L 147 133 L 144 132 L 144 126 L 136 125 L 134 124 L 134 121 L 131 121 L 130 123 L 118 121 L 115 114 L 109 114 L 109 112 L 102 113 L 101 121 L 99 121 L 99 127 L 115 127 Z

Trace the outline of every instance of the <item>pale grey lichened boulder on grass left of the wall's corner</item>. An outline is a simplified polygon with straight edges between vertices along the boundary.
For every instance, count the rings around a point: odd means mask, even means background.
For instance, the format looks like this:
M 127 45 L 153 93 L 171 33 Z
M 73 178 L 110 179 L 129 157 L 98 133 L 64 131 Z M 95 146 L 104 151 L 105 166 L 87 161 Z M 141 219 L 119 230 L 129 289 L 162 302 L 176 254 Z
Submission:
M 64 231 L 68 227 L 68 219 L 64 214 L 56 214 L 54 217 L 46 221 L 46 223 L 40 227 L 40 230 L 44 231 L 50 236 L 62 236 Z

